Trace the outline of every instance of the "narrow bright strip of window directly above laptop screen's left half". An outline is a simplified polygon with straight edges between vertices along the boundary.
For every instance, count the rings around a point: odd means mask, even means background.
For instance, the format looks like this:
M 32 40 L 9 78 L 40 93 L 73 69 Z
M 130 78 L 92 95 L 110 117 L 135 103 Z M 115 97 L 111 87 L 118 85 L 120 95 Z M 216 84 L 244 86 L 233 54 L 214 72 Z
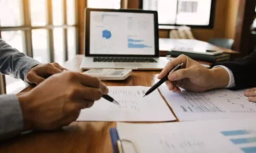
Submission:
M 121 0 L 87 0 L 88 8 L 121 8 Z

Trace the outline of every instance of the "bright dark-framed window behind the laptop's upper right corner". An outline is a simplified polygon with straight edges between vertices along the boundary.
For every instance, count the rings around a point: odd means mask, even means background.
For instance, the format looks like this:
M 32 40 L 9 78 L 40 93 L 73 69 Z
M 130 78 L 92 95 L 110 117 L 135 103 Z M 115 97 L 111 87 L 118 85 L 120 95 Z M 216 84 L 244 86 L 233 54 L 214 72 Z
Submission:
M 143 0 L 143 9 L 157 10 L 160 25 L 212 27 L 215 0 Z

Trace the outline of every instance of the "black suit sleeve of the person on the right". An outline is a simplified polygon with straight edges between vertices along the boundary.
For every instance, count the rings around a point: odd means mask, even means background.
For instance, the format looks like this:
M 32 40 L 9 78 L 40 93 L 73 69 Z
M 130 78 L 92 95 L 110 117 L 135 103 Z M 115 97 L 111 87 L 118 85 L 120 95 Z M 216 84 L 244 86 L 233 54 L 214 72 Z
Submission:
M 224 65 L 233 72 L 236 83 L 235 89 L 256 88 L 256 52 L 242 59 L 221 62 L 217 65 Z

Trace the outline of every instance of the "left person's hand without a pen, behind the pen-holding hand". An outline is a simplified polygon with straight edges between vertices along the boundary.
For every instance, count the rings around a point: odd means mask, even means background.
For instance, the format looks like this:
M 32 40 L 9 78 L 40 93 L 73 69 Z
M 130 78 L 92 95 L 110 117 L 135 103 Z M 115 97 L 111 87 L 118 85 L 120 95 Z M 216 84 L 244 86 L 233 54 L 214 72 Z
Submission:
M 36 65 L 26 75 L 26 80 L 29 83 L 38 85 L 40 82 L 56 73 L 61 73 L 62 71 L 67 70 L 58 63 L 48 63 L 44 65 Z

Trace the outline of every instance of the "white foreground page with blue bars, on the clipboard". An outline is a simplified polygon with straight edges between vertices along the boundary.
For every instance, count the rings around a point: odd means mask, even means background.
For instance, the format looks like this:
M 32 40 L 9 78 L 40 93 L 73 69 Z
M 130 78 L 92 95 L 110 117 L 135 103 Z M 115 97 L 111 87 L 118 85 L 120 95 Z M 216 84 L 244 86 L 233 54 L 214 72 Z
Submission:
M 252 118 L 157 124 L 118 123 L 117 129 L 119 139 L 131 140 L 137 153 L 256 152 L 256 122 Z M 128 152 L 125 150 L 125 153 Z

